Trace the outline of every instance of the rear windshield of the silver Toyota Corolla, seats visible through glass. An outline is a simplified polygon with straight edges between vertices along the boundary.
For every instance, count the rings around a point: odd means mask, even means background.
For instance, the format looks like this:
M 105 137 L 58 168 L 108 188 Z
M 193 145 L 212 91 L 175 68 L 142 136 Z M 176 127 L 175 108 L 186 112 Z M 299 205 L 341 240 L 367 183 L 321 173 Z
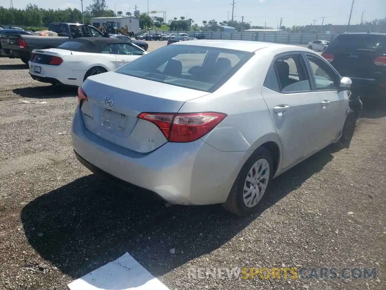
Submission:
M 237 72 L 253 53 L 195 45 L 168 45 L 141 56 L 117 70 L 189 89 L 214 92 Z

